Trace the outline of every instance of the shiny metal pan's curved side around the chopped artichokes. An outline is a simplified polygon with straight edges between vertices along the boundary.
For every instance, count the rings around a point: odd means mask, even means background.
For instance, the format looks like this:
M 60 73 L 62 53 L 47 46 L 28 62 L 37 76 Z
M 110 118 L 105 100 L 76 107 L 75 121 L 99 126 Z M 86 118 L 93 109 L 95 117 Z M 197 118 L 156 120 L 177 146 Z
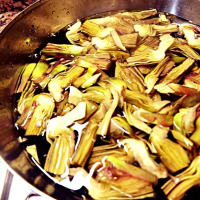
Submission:
M 200 0 L 40 0 L 18 15 L 0 34 L 0 156 L 10 170 L 37 192 L 56 199 L 81 195 L 55 184 L 30 162 L 14 127 L 14 74 L 30 61 L 49 36 L 74 22 L 97 13 L 156 8 L 200 24 Z

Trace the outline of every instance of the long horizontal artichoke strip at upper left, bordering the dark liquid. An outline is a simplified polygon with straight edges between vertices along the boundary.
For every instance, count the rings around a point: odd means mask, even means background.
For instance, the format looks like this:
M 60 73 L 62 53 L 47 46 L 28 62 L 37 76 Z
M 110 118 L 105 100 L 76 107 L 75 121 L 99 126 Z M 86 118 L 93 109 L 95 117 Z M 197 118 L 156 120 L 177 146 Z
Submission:
M 42 49 L 41 53 L 43 55 L 48 55 L 48 56 L 56 56 L 56 55 L 80 56 L 84 54 L 84 50 L 85 48 L 79 45 L 48 43 L 47 46 Z

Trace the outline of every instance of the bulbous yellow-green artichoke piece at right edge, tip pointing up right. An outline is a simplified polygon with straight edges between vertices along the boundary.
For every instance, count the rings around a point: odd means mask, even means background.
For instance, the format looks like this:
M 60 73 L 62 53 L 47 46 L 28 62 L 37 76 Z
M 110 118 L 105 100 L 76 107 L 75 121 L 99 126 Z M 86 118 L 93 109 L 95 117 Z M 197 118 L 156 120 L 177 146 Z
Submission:
M 181 108 L 179 112 L 174 116 L 174 128 L 181 132 L 183 135 L 190 135 L 195 129 L 194 121 L 196 119 L 196 112 L 198 107 L 199 104 L 189 108 Z

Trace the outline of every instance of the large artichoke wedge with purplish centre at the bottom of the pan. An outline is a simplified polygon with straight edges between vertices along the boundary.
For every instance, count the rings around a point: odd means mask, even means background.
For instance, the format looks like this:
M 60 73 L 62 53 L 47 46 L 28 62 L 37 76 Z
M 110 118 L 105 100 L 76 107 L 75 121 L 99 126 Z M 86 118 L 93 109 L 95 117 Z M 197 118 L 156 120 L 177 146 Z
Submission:
M 139 197 L 153 192 L 152 186 L 157 183 L 156 176 L 150 172 L 113 156 L 105 157 L 104 167 L 98 171 L 96 179 L 109 183 L 111 188 L 129 194 L 130 197 Z

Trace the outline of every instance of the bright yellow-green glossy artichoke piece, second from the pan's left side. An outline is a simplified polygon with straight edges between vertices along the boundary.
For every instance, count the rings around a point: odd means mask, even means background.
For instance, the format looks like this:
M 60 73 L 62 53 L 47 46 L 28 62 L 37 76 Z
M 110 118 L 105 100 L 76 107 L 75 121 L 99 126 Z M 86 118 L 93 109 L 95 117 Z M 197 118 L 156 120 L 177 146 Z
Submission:
M 34 83 L 40 83 L 41 77 L 44 76 L 44 74 L 48 70 L 48 67 L 48 64 L 45 62 L 45 57 L 42 56 L 32 72 L 31 80 Z

